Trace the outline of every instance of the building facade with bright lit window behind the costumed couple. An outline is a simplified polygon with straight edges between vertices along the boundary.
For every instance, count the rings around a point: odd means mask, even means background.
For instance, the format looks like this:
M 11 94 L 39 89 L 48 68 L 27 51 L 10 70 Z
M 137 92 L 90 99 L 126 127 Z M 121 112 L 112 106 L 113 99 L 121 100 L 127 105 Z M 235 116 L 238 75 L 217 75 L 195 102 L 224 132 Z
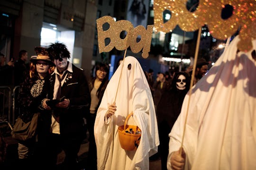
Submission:
M 18 59 L 20 50 L 27 50 L 32 56 L 35 46 L 64 42 L 72 54 L 71 62 L 89 76 L 97 3 L 98 0 L 1 0 L 0 51 L 8 61 L 12 57 Z M 45 30 L 51 33 L 48 37 L 43 35 Z

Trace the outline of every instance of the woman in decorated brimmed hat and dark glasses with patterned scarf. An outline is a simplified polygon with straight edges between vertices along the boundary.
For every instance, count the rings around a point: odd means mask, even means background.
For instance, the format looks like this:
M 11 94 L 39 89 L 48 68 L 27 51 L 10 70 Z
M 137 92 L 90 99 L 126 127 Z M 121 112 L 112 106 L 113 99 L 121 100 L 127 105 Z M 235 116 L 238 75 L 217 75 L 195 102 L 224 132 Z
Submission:
M 50 126 L 47 126 L 45 122 L 42 123 L 42 121 L 46 119 L 50 120 L 51 113 L 46 110 L 47 108 L 43 107 L 42 103 L 43 99 L 47 97 L 47 76 L 54 70 L 54 63 L 49 58 L 45 48 L 35 47 L 35 51 L 37 52 L 37 57 L 31 59 L 30 74 L 20 87 L 18 104 L 20 107 L 19 118 L 21 118 L 24 123 L 31 121 L 34 116 L 38 116 L 37 132 L 38 142 L 40 143 L 41 139 L 44 139 L 43 134 L 50 132 Z M 47 127 L 49 128 L 47 129 Z M 18 138 L 20 166 L 24 165 L 27 168 L 27 165 L 31 165 L 31 163 L 27 163 L 27 161 L 37 157 L 34 155 L 36 154 L 36 136 L 37 133 L 35 132 L 35 134 L 29 136 L 27 139 Z M 36 167 L 33 168 L 36 169 Z

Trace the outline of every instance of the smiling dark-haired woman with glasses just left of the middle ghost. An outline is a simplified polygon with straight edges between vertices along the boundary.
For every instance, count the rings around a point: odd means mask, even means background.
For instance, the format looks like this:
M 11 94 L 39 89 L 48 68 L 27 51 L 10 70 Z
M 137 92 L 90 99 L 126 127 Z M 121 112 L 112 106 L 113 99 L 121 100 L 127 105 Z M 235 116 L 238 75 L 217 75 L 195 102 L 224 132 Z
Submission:
M 104 91 L 109 83 L 108 74 L 109 66 L 107 64 L 98 63 L 95 66 L 96 76 L 91 78 L 91 81 L 89 82 L 91 106 L 90 113 L 87 117 L 87 125 L 89 130 L 88 164 L 90 166 L 90 170 L 97 170 L 97 148 L 94 138 L 94 122 Z

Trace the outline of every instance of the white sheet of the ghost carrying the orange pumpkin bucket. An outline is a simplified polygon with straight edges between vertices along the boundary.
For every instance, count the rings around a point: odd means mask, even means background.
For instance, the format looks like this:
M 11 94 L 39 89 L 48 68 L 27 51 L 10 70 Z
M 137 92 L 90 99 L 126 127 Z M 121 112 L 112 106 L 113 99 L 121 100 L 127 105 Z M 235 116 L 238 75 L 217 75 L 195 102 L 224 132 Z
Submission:
M 107 118 L 109 106 L 114 102 L 116 111 Z M 141 140 L 136 151 L 125 151 L 119 143 L 118 127 L 124 125 L 131 112 L 133 117 L 128 125 L 137 125 L 141 129 Z M 149 156 L 157 152 L 159 145 L 158 129 L 150 88 L 136 58 L 126 57 L 123 68 L 120 65 L 110 79 L 97 112 L 94 135 L 98 170 L 149 169 Z

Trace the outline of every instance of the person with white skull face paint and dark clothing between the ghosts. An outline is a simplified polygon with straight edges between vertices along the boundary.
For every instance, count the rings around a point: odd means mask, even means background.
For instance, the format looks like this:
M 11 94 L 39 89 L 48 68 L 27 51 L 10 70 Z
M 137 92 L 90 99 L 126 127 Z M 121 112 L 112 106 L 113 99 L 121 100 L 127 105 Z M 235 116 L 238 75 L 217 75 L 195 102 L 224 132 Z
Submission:
M 190 87 L 190 78 L 184 72 L 174 73 L 174 79 L 170 89 L 165 91 L 157 105 L 157 123 L 159 133 L 159 154 L 162 170 L 167 170 L 167 156 L 169 148 L 169 136 L 174 122 L 178 118 L 183 99 Z

